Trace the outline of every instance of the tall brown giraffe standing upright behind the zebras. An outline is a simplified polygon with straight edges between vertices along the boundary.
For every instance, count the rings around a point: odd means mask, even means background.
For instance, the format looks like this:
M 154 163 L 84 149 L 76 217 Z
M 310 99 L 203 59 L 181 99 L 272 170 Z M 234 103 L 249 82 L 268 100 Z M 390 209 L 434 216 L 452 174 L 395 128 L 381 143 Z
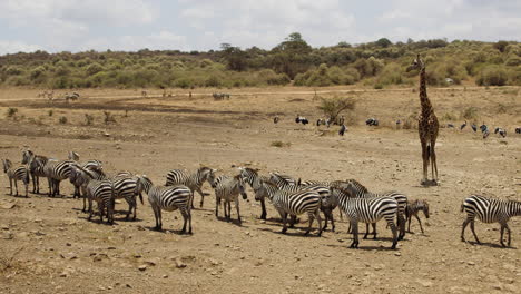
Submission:
M 425 63 L 420 59 L 417 55 L 416 59 L 413 60 L 411 66 L 407 67 L 407 71 L 420 69 L 420 105 L 422 111 L 417 120 L 417 131 L 420 135 L 420 141 L 422 144 L 422 159 L 423 159 L 423 178 L 422 185 L 429 184 L 427 169 L 431 164 L 431 174 L 433 177 L 432 184 L 438 184 L 438 165 L 436 165 L 436 153 L 434 147 L 436 145 L 438 130 L 440 124 L 438 122 L 434 109 L 432 109 L 431 101 L 426 95 L 426 81 L 425 81 Z

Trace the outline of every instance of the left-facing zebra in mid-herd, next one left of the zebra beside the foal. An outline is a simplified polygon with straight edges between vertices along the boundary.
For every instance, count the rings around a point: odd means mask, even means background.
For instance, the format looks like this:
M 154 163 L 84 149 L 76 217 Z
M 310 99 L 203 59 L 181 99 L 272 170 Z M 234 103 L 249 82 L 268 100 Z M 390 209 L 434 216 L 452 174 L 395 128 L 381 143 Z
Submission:
M 308 189 L 288 192 L 279 189 L 274 183 L 263 180 L 260 180 L 260 185 L 254 190 L 255 198 L 264 197 L 265 195 L 277 209 L 283 220 L 283 229 L 281 233 L 286 234 L 287 232 L 287 215 L 297 216 L 307 213 L 309 225 L 304 235 L 309 234 L 313 220 L 316 218 L 318 222 L 317 236 L 322 236 L 322 218 L 320 215 L 322 199 L 317 192 Z

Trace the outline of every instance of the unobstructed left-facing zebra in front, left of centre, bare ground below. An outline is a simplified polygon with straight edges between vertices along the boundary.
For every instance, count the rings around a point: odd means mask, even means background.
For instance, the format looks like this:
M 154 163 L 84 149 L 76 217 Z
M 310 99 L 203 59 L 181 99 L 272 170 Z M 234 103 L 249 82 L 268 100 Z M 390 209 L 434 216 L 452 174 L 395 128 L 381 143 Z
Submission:
M 181 234 L 186 233 L 187 223 L 188 234 L 191 234 L 190 200 L 194 194 L 189 187 L 183 185 L 154 186 L 153 182 L 146 175 L 142 175 L 138 177 L 138 189 L 145 190 L 148 195 L 148 202 L 156 218 L 156 229 L 163 229 L 161 210 L 173 212 L 179 209 L 185 220 Z

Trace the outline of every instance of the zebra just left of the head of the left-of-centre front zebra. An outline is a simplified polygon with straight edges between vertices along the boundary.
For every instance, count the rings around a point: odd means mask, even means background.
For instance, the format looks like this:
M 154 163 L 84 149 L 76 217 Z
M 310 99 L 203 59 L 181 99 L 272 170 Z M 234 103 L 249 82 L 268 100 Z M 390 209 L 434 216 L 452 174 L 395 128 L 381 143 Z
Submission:
M 125 200 L 128 203 L 128 213 L 127 216 L 125 217 L 128 219 L 130 217 L 130 214 L 132 213 L 134 209 L 134 217 L 132 220 L 136 220 L 136 214 L 137 214 L 137 202 L 136 202 L 136 196 L 139 196 L 139 200 L 141 204 L 142 202 L 142 187 L 138 188 L 138 180 L 139 177 L 137 176 L 119 176 L 112 179 L 114 184 L 114 200 L 115 199 L 121 199 L 125 198 Z M 114 203 L 115 206 L 115 203 Z

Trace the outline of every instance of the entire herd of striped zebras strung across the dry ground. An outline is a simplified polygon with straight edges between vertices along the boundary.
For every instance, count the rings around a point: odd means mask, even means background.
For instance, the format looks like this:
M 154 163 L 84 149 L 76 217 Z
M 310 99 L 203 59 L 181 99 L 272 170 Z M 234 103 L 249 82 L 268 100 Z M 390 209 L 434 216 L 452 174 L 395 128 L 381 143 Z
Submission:
M 217 169 L 200 167 L 194 173 L 183 169 L 173 169 L 166 175 L 166 184 L 156 186 L 146 175 L 134 175 L 129 171 L 120 171 L 116 175 L 107 175 L 102 164 L 92 159 L 80 161 L 79 155 L 69 151 L 67 160 L 57 160 L 46 156 L 36 155 L 31 150 L 22 153 L 21 165 L 12 165 L 9 159 L 2 159 L 3 170 L 10 182 L 10 194 L 18 195 L 18 180 L 26 186 L 28 197 L 29 182 L 32 179 L 32 193 L 39 194 L 39 178 L 48 179 L 48 195 L 60 195 L 60 182 L 69 179 L 75 187 L 72 197 L 83 198 L 82 212 L 88 212 L 88 219 L 94 215 L 92 203 L 97 203 L 100 222 L 104 216 L 109 224 L 114 223 L 114 210 L 117 199 L 128 203 L 126 219 L 132 215 L 136 219 L 137 198 L 142 204 L 142 193 L 148 195 L 153 208 L 156 229 L 163 228 L 161 212 L 179 209 L 184 218 L 181 233 L 191 234 L 191 209 L 194 208 L 194 193 L 200 195 L 199 206 L 204 206 L 207 194 L 203 193 L 203 184 L 207 182 L 215 189 L 216 209 L 218 217 L 219 206 L 223 205 L 226 220 L 230 220 L 232 202 L 234 202 L 237 222 L 240 223 L 239 195 L 247 199 L 246 186 L 253 189 L 255 199 L 260 203 L 260 218 L 267 218 L 265 199 L 267 198 L 282 218 L 282 233 L 288 227 L 294 227 L 297 216 L 306 214 L 308 226 L 305 235 L 309 234 L 314 220 L 318 223 L 317 235 L 327 228 L 331 223 L 335 229 L 333 212 L 340 208 L 340 216 L 345 214 L 350 223 L 350 232 L 353 234 L 351 247 L 358 247 L 358 223 L 366 224 L 364 238 L 370 235 L 372 225 L 373 238 L 376 238 L 376 223 L 384 219 L 391 229 L 393 238 L 391 248 L 396 248 L 397 242 L 403 239 L 405 232 L 411 229 L 411 219 L 415 217 L 423 231 L 419 213 L 423 212 L 426 218 L 430 215 L 429 203 L 424 199 L 410 200 L 407 196 L 399 192 L 371 193 L 355 179 L 346 180 L 302 180 L 279 173 L 260 175 L 258 169 L 249 167 L 238 168 L 236 175 L 217 175 Z M 88 204 L 88 205 L 87 205 Z M 508 220 L 512 216 L 521 215 L 521 202 L 501 200 L 472 195 L 464 199 L 461 210 L 466 212 L 463 223 L 461 239 L 464 241 L 465 227 L 470 224 L 476 243 L 480 243 L 474 231 L 474 219 L 478 217 L 484 223 L 501 224 L 501 245 L 504 245 L 503 233 L 508 233 L 508 246 L 511 245 L 511 231 Z M 322 216 L 324 215 L 324 225 Z M 288 220 L 289 216 L 289 220 Z M 409 220 L 409 228 L 405 224 Z M 289 223 L 289 224 L 288 224 Z M 188 227 L 188 228 L 187 228 Z

